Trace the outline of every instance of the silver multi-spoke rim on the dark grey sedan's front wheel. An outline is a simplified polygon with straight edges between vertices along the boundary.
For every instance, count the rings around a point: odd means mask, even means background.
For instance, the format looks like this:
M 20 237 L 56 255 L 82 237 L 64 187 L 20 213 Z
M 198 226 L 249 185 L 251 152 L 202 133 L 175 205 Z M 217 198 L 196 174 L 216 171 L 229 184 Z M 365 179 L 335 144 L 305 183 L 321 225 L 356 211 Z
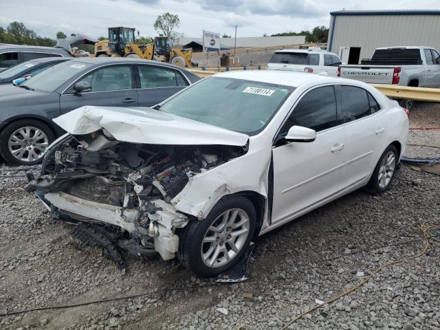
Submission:
M 12 133 L 8 140 L 10 154 L 21 162 L 34 162 L 43 157 L 49 140 L 47 135 L 32 126 L 25 126 Z

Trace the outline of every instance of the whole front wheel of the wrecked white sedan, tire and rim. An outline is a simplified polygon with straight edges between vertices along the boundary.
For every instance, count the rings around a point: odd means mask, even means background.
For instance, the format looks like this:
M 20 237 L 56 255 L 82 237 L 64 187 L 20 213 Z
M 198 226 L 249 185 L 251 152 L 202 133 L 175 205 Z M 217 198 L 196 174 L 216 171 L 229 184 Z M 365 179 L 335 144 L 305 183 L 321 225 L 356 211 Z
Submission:
M 202 277 L 225 272 L 245 253 L 255 223 L 255 208 L 248 198 L 222 199 L 206 219 L 191 220 L 179 233 L 181 263 Z

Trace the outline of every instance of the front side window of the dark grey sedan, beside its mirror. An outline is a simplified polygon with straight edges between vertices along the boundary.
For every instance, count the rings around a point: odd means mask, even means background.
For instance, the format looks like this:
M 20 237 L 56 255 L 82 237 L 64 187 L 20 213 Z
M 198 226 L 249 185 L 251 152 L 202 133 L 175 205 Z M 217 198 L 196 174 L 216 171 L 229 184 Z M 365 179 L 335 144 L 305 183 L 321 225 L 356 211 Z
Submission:
M 80 81 L 91 83 L 91 91 L 120 91 L 131 89 L 131 67 L 115 65 L 103 67 L 88 74 Z

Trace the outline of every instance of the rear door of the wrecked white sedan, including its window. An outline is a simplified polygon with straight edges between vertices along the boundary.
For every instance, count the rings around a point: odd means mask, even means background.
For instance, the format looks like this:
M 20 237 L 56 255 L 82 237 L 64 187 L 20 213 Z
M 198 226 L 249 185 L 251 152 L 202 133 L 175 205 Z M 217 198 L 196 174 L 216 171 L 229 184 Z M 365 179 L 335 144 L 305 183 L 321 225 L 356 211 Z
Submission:
M 340 189 L 344 189 L 369 177 L 385 148 L 382 144 L 386 123 L 381 120 L 379 104 L 368 91 L 348 85 L 337 90 L 347 137 L 344 175 L 340 179 Z

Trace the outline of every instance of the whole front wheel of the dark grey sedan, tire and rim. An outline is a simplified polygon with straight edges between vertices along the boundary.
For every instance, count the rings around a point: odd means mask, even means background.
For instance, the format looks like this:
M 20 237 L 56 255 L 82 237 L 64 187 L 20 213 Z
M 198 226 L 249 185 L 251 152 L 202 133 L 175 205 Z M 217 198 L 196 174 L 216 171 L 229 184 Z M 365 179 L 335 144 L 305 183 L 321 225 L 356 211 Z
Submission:
M 37 164 L 54 138 L 52 130 L 38 120 L 17 120 L 1 132 L 0 154 L 9 164 Z

